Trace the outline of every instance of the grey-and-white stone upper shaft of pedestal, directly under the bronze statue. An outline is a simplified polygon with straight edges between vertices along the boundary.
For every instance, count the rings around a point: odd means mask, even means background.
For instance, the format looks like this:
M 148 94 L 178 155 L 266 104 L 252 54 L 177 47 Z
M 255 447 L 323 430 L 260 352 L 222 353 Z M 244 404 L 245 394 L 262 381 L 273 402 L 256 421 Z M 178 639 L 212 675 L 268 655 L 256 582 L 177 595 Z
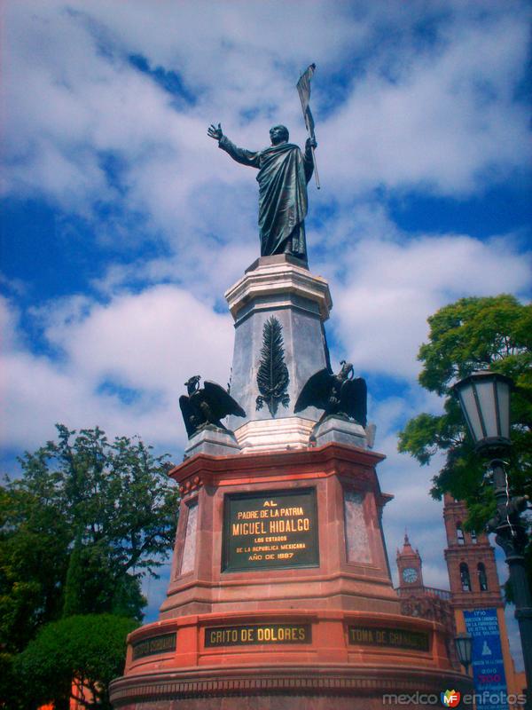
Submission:
M 245 452 L 255 446 L 264 450 L 266 444 L 270 450 L 286 449 L 287 444 L 308 446 L 309 431 L 321 412 L 308 407 L 297 416 L 293 406 L 309 377 L 327 367 L 329 361 L 324 322 L 329 318 L 332 299 L 327 282 L 311 274 L 299 259 L 262 256 L 225 293 L 225 298 L 235 320 L 231 397 L 247 414 L 244 420 L 229 417 L 227 426 L 235 431 Z M 275 416 L 267 406 L 258 409 L 256 405 L 261 394 L 257 374 L 263 329 L 272 317 L 282 328 L 288 370 L 287 403 L 278 405 Z M 272 420 L 276 426 L 269 427 Z M 262 422 L 268 423 L 262 426 Z

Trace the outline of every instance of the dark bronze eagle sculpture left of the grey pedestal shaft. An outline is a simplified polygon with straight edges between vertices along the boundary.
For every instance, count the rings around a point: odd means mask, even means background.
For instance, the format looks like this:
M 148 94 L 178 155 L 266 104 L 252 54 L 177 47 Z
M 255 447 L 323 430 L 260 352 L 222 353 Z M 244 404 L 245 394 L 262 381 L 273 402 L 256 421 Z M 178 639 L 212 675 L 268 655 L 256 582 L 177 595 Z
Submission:
M 200 379 L 200 375 L 189 378 L 184 383 L 188 396 L 182 395 L 179 398 L 188 438 L 208 425 L 226 429 L 220 420 L 228 414 L 246 416 L 239 403 L 221 385 L 205 380 L 204 386 L 200 388 Z

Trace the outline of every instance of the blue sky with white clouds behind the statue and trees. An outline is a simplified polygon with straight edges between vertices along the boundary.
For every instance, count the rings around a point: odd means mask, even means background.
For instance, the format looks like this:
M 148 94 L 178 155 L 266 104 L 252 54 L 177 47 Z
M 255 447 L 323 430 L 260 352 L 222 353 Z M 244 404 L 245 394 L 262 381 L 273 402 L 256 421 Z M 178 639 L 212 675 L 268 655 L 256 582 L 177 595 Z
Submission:
M 406 526 L 426 584 L 445 587 L 437 461 L 397 454 L 396 431 L 441 407 L 417 384 L 427 316 L 530 297 L 529 4 L 18 0 L 3 14 L 4 468 L 54 422 L 139 434 L 179 461 L 183 383 L 227 382 L 223 292 L 259 248 L 254 171 L 207 126 L 257 149 L 283 122 L 302 145 L 295 83 L 315 61 L 307 233 L 332 358 L 368 382 L 392 563 Z

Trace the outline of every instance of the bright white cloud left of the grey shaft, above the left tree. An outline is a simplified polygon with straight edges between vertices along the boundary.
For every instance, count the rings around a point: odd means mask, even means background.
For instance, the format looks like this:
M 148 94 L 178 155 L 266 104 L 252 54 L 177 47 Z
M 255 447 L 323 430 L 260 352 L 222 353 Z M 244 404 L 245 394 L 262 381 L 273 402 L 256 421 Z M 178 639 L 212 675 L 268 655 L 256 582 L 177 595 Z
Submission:
M 98 423 L 109 434 L 138 433 L 175 453 L 185 441 L 178 406 L 184 382 L 195 374 L 222 384 L 229 377 L 231 319 L 174 286 L 106 305 L 67 299 L 35 317 L 61 357 L 36 356 L 13 337 L 7 343 L 2 434 L 9 446 L 38 446 L 52 438 L 54 422 Z M 7 318 L 13 320 L 9 311 Z M 136 397 L 125 403 L 116 388 Z

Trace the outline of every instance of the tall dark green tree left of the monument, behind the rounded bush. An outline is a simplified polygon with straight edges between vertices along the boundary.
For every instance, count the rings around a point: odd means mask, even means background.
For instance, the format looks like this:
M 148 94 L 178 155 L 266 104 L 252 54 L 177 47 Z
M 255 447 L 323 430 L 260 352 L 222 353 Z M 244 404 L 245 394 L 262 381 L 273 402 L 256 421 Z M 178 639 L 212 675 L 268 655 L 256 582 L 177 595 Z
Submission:
M 140 440 L 58 425 L 58 440 L 20 459 L 0 489 L 0 644 L 21 651 L 71 614 L 142 618 L 143 575 L 156 576 L 176 531 L 166 456 Z

